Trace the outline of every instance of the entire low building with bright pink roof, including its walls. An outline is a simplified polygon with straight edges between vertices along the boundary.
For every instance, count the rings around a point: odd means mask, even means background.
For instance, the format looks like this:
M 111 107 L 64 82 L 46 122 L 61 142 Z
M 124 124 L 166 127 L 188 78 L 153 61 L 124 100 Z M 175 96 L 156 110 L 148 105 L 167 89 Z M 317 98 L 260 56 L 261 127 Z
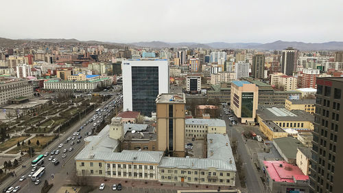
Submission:
M 268 192 L 309 193 L 309 177 L 285 161 L 263 161 L 263 171 L 267 177 Z

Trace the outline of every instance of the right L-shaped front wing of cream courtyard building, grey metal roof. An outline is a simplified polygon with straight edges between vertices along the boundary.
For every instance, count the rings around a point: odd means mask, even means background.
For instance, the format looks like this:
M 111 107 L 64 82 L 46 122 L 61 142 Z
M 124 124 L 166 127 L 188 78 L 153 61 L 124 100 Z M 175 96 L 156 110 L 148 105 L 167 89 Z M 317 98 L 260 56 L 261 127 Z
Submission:
M 207 135 L 207 158 L 163 157 L 161 182 L 235 186 L 236 165 L 228 135 Z

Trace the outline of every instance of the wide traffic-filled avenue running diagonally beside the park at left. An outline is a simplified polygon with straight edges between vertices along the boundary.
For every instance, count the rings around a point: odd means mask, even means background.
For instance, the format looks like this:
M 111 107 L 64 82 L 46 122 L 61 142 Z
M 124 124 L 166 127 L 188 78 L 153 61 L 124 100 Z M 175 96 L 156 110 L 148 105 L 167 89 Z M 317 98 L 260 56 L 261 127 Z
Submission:
M 120 98 L 119 96 L 115 96 L 114 98 L 110 98 L 110 100 L 108 100 L 105 104 L 103 104 L 100 108 L 103 109 L 104 106 L 106 106 L 107 104 L 110 104 L 110 102 L 113 102 L 113 100 L 117 100 Z M 58 155 L 54 155 L 54 158 L 57 158 L 60 161 L 60 164 L 58 166 L 54 166 L 54 163 L 51 163 L 51 161 L 48 161 L 48 158 L 51 156 L 50 154 L 45 157 L 45 161 L 44 161 L 44 166 L 46 168 L 45 174 L 43 174 L 42 179 L 42 183 L 40 183 L 39 185 L 34 185 L 34 181 L 31 181 L 31 179 L 27 178 L 24 181 L 19 182 L 19 174 L 17 175 L 16 178 L 14 178 L 12 180 L 12 182 L 10 183 L 10 186 L 16 186 L 16 185 L 20 185 L 21 186 L 21 191 L 19 192 L 40 192 L 42 186 L 43 186 L 43 182 L 45 180 L 48 180 L 50 183 L 54 183 L 54 187 L 53 189 L 56 189 L 56 191 L 58 190 L 58 188 L 60 188 L 61 185 L 61 181 L 64 181 L 65 179 L 71 178 L 71 171 L 75 170 L 75 161 L 74 161 L 74 157 L 75 155 L 78 154 L 78 152 L 80 152 L 80 150 L 82 150 L 82 147 L 84 147 L 84 134 L 86 132 L 91 132 L 92 128 L 93 128 L 93 124 L 95 122 L 91 122 L 89 124 L 87 124 L 86 126 L 84 126 L 84 128 L 80 131 L 80 136 L 82 136 L 82 139 L 80 139 L 80 143 L 77 144 L 76 141 L 78 139 L 78 135 L 75 135 L 75 140 L 70 140 L 68 142 L 68 144 L 66 144 L 66 140 L 68 137 L 73 137 L 73 132 L 75 132 L 76 130 L 78 130 L 78 128 L 80 128 L 80 126 L 83 126 L 85 124 L 85 122 L 87 120 L 89 120 L 91 117 L 93 117 L 93 115 L 95 114 L 95 111 L 93 111 L 92 113 L 89 113 L 88 115 L 86 115 L 86 117 L 84 117 L 80 122 L 78 122 L 78 124 L 75 124 L 75 126 L 73 126 L 73 128 L 69 129 L 68 133 L 71 133 L 69 135 L 63 135 L 62 137 L 60 137 L 59 139 L 56 140 L 60 140 L 59 143 L 54 144 L 54 146 L 51 146 L 48 148 L 49 152 L 51 152 L 51 150 L 60 150 L 60 153 Z M 104 113 L 103 113 L 104 114 Z M 97 118 L 96 122 L 99 120 L 99 117 Z M 71 145 L 71 141 L 74 141 L 74 145 Z M 62 148 L 58 148 L 58 144 L 63 144 Z M 67 151 L 65 154 L 67 155 L 67 157 L 62 158 L 63 150 L 64 148 L 69 149 L 69 148 L 73 148 L 74 150 L 72 151 Z M 44 154 L 44 152 L 41 152 L 42 154 Z M 32 167 L 31 166 L 27 166 L 27 170 L 25 170 L 25 172 L 23 172 L 23 175 L 28 175 L 29 172 L 31 172 Z M 67 176 L 67 172 L 69 172 L 69 175 Z M 21 174 L 22 175 L 22 174 Z M 54 175 L 54 179 L 52 179 L 52 175 Z M 4 185 L 3 185 L 4 186 Z M 5 188 L 5 187 L 1 187 L 1 188 Z M 2 189 L 1 189 L 2 190 Z M 53 191 L 53 190 L 51 190 Z

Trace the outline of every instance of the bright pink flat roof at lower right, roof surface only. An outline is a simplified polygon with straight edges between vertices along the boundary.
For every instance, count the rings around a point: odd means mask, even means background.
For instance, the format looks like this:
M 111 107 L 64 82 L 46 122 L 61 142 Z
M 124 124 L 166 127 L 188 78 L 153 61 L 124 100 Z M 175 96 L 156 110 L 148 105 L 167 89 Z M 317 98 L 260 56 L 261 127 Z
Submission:
M 304 175 L 298 166 L 285 161 L 263 161 L 263 164 L 273 181 L 295 183 L 309 180 L 309 177 Z

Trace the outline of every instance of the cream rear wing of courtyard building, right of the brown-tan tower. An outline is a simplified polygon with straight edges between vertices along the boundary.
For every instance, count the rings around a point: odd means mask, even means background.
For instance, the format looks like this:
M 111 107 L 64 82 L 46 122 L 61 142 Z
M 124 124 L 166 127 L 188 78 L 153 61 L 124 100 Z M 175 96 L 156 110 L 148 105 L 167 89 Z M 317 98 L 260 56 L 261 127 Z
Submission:
M 204 139 L 209 133 L 226 133 L 224 120 L 218 119 L 186 119 L 185 133 L 187 138 Z

